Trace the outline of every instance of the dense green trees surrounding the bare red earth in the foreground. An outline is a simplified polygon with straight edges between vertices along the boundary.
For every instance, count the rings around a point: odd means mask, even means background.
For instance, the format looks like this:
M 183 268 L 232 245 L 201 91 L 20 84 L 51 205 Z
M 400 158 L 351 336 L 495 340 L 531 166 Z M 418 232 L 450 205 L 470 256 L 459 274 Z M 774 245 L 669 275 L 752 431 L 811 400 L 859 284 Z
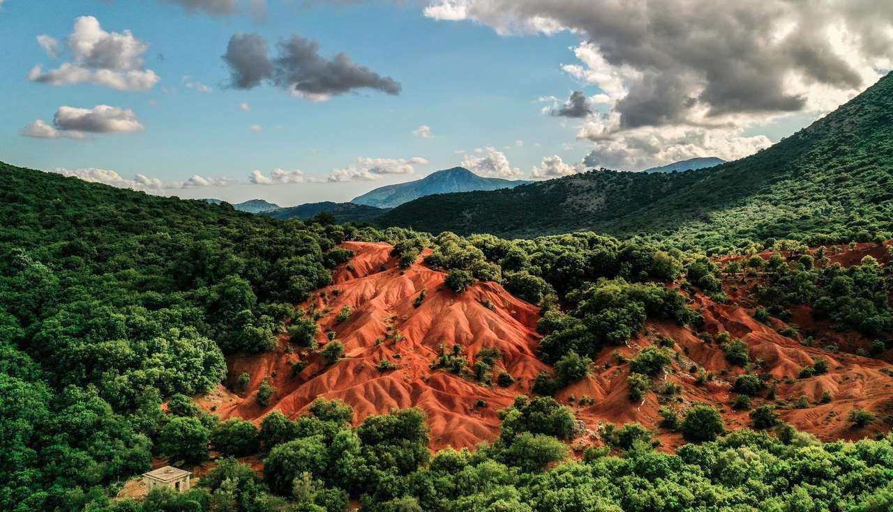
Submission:
M 697 310 L 663 285 L 684 278 L 722 301 L 723 269 L 697 252 L 591 232 L 505 240 L 337 226 L 326 216 L 280 221 L 5 164 L 0 215 L 0 509 L 893 508 L 893 438 L 822 443 L 778 424 L 771 409 L 755 409 L 755 430 L 727 432 L 716 409 L 690 408 L 668 425 L 689 441 L 674 454 L 630 424 L 606 429 L 604 447 L 571 456 L 572 411 L 550 395 L 647 318 L 697 326 Z M 352 256 L 338 248 L 346 240 L 387 241 L 407 266 L 433 248 L 426 262 L 447 271 L 456 292 L 493 280 L 541 306 L 539 357 L 555 365 L 555 377 L 538 379 L 536 397 L 501 412 L 495 442 L 432 454 L 418 409 L 353 427 L 344 403 L 317 401 L 311 416 L 271 413 L 256 427 L 221 421 L 188 398 L 221 382 L 225 355 L 268 351 L 288 324 L 302 326 L 294 304 L 330 284 L 331 269 Z M 876 263 L 765 265 L 771 281 L 760 300 L 772 314 L 805 302 L 841 328 L 889 334 L 880 293 L 888 277 Z M 839 296 L 847 302 L 834 302 Z M 643 351 L 630 364 L 647 384 L 666 357 Z M 221 458 L 195 489 L 113 499 L 153 458 L 197 463 L 210 450 Z M 246 455 L 263 459 L 262 474 L 234 459 Z

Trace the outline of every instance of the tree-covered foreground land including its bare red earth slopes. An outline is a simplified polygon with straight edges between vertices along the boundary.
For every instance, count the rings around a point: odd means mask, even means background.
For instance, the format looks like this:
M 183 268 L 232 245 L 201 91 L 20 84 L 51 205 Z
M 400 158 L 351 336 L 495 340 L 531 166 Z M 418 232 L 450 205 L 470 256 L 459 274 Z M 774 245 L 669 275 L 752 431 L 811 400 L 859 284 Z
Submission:
M 5 164 L 0 214 L 4 510 L 893 506 L 882 244 L 431 237 Z M 432 454 L 432 417 L 488 442 Z M 116 498 L 166 463 L 196 488 Z

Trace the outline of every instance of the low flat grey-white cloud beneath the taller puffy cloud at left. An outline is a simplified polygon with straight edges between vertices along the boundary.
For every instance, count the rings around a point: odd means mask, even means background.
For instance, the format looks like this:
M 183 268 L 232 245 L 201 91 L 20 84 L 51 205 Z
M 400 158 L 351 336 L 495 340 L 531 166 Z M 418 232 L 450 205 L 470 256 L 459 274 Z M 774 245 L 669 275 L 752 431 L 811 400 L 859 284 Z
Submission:
M 36 138 L 85 138 L 87 134 L 133 133 L 143 131 L 137 114 L 130 109 L 96 105 L 92 109 L 61 106 L 53 116 L 53 125 L 35 120 L 22 128 L 23 136 Z

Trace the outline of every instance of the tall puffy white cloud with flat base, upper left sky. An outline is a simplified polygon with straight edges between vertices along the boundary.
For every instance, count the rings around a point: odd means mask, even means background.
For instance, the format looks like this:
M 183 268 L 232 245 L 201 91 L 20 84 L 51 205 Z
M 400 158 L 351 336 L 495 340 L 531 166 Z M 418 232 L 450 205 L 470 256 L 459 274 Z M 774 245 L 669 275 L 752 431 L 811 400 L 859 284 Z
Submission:
M 46 35 L 38 37 L 38 44 L 51 56 L 60 51 L 54 41 Z M 149 46 L 129 30 L 106 32 L 93 16 L 81 16 L 74 21 L 66 45 L 71 62 L 46 71 L 38 64 L 28 78 L 53 86 L 94 84 L 122 91 L 145 91 L 158 83 L 158 75 L 144 67 L 143 55 Z

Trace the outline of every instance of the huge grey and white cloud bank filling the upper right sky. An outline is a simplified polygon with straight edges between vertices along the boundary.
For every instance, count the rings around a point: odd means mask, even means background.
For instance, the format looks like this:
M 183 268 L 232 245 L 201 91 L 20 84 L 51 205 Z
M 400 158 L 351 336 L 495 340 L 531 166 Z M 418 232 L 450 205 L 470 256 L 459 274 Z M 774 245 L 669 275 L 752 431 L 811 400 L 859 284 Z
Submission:
M 580 94 L 550 111 L 584 120 L 580 137 L 600 155 L 590 161 L 626 169 L 739 158 L 765 142 L 747 128 L 830 111 L 893 67 L 893 3 L 874 0 L 430 0 L 425 15 L 580 35 L 578 62 L 562 68 L 600 92 L 588 108 Z

